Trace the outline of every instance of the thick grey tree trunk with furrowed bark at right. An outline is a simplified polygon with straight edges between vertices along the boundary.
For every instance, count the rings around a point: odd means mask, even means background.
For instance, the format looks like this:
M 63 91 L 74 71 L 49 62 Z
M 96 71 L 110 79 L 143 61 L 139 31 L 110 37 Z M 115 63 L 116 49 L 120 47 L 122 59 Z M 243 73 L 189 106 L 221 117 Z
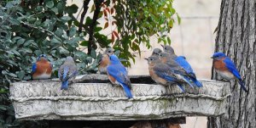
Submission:
M 256 127 L 256 1 L 222 0 L 215 51 L 226 53 L 236 64 L 248 93 L 237 81 L 231 81 L 227 112 L 208 118 L 208 128 Z M 218 75 L 212 72 L 212 78 Z

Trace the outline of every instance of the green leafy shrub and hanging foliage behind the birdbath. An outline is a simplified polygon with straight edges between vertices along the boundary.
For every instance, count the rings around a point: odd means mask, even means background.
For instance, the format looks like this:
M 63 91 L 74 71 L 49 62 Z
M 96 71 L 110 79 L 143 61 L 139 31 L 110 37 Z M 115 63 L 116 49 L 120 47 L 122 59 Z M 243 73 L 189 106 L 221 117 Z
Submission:
M 54 64 L 54 75 L 68 56 L 79 74 L 95 73 L 98 49 L 113 47 L 119 57 L 140 55 L 139 45 L 150 47 L 149 37 L 171 43 L 167 34 L 180 19 L 172 0 L 84 0 L 79 10 L 62 0 L 4 0 L 0 2 L 0 127 L 47 127 L 47 122 L 16 121 L 9 100 L 9 84 L 31 80 L 32 63 L 45 53 Z M 90 6 L 91 5 L 91 6 Z M 92 15 L 92 16 L 90 16 Z M 104 19 L 103 25 L 99 19 Z M 102 34 L 108 27 L 109 35 Z M 126 61 L 129 66 L 130 62 Z

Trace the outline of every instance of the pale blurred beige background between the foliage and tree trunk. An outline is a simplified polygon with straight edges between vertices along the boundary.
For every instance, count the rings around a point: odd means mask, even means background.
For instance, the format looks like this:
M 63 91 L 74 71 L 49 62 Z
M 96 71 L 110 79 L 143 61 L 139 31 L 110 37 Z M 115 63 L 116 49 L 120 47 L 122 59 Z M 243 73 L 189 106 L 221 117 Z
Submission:
M 68 1 L 68 4 L 73 3 L 79 5 L 79 10 L 82 8 L 83 1 Z M 199 79 L 211 78 L 212 59 L 210 57 L 214 52 L 216 36 L 213 32 L 218 25 L 220 3 L 221 0 L 176 0 L 173 3 L 173 7 L 181 17 L 181 24 L 176 23 L 172 28 L 171 45 L 177 55 L 187 58 Z M 151 49 L 140 46 L 143 51 L 142 56 L 138 56 L 136 63 L 131 64 L 130 75 L 148 75 L 148 64 L 143 58 L 150 56 L 155 47 L 161 48 L 154 36 L 150 38 L 150 42 Z M 186 121 L 186 124 L 181 125 L 182 128 L 207 127 L 207 117 L 189 117 Z

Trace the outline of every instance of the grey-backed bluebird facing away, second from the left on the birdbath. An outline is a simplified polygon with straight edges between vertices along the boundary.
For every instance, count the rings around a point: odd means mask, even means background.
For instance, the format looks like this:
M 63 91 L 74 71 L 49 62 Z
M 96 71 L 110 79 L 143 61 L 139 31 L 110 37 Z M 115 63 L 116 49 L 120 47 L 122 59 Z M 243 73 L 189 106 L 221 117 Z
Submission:
M 68 81 L 72 81 L 77 74 L 78 69 L 75 62 L 72 57 L 68 56 L 58 71 L 58 75 L 61 80 L 61 90 L 67 90 Z

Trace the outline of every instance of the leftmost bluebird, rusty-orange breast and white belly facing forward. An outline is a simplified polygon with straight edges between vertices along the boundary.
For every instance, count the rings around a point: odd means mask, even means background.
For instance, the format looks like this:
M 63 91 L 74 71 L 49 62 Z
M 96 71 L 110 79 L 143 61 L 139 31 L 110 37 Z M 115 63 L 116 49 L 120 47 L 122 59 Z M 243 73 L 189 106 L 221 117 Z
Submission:
M 49 79 L 51 75 L 52 64 L 49 63 L 45 54 L 37 58 L 37 62 L 32 64 L 32 79 Z

